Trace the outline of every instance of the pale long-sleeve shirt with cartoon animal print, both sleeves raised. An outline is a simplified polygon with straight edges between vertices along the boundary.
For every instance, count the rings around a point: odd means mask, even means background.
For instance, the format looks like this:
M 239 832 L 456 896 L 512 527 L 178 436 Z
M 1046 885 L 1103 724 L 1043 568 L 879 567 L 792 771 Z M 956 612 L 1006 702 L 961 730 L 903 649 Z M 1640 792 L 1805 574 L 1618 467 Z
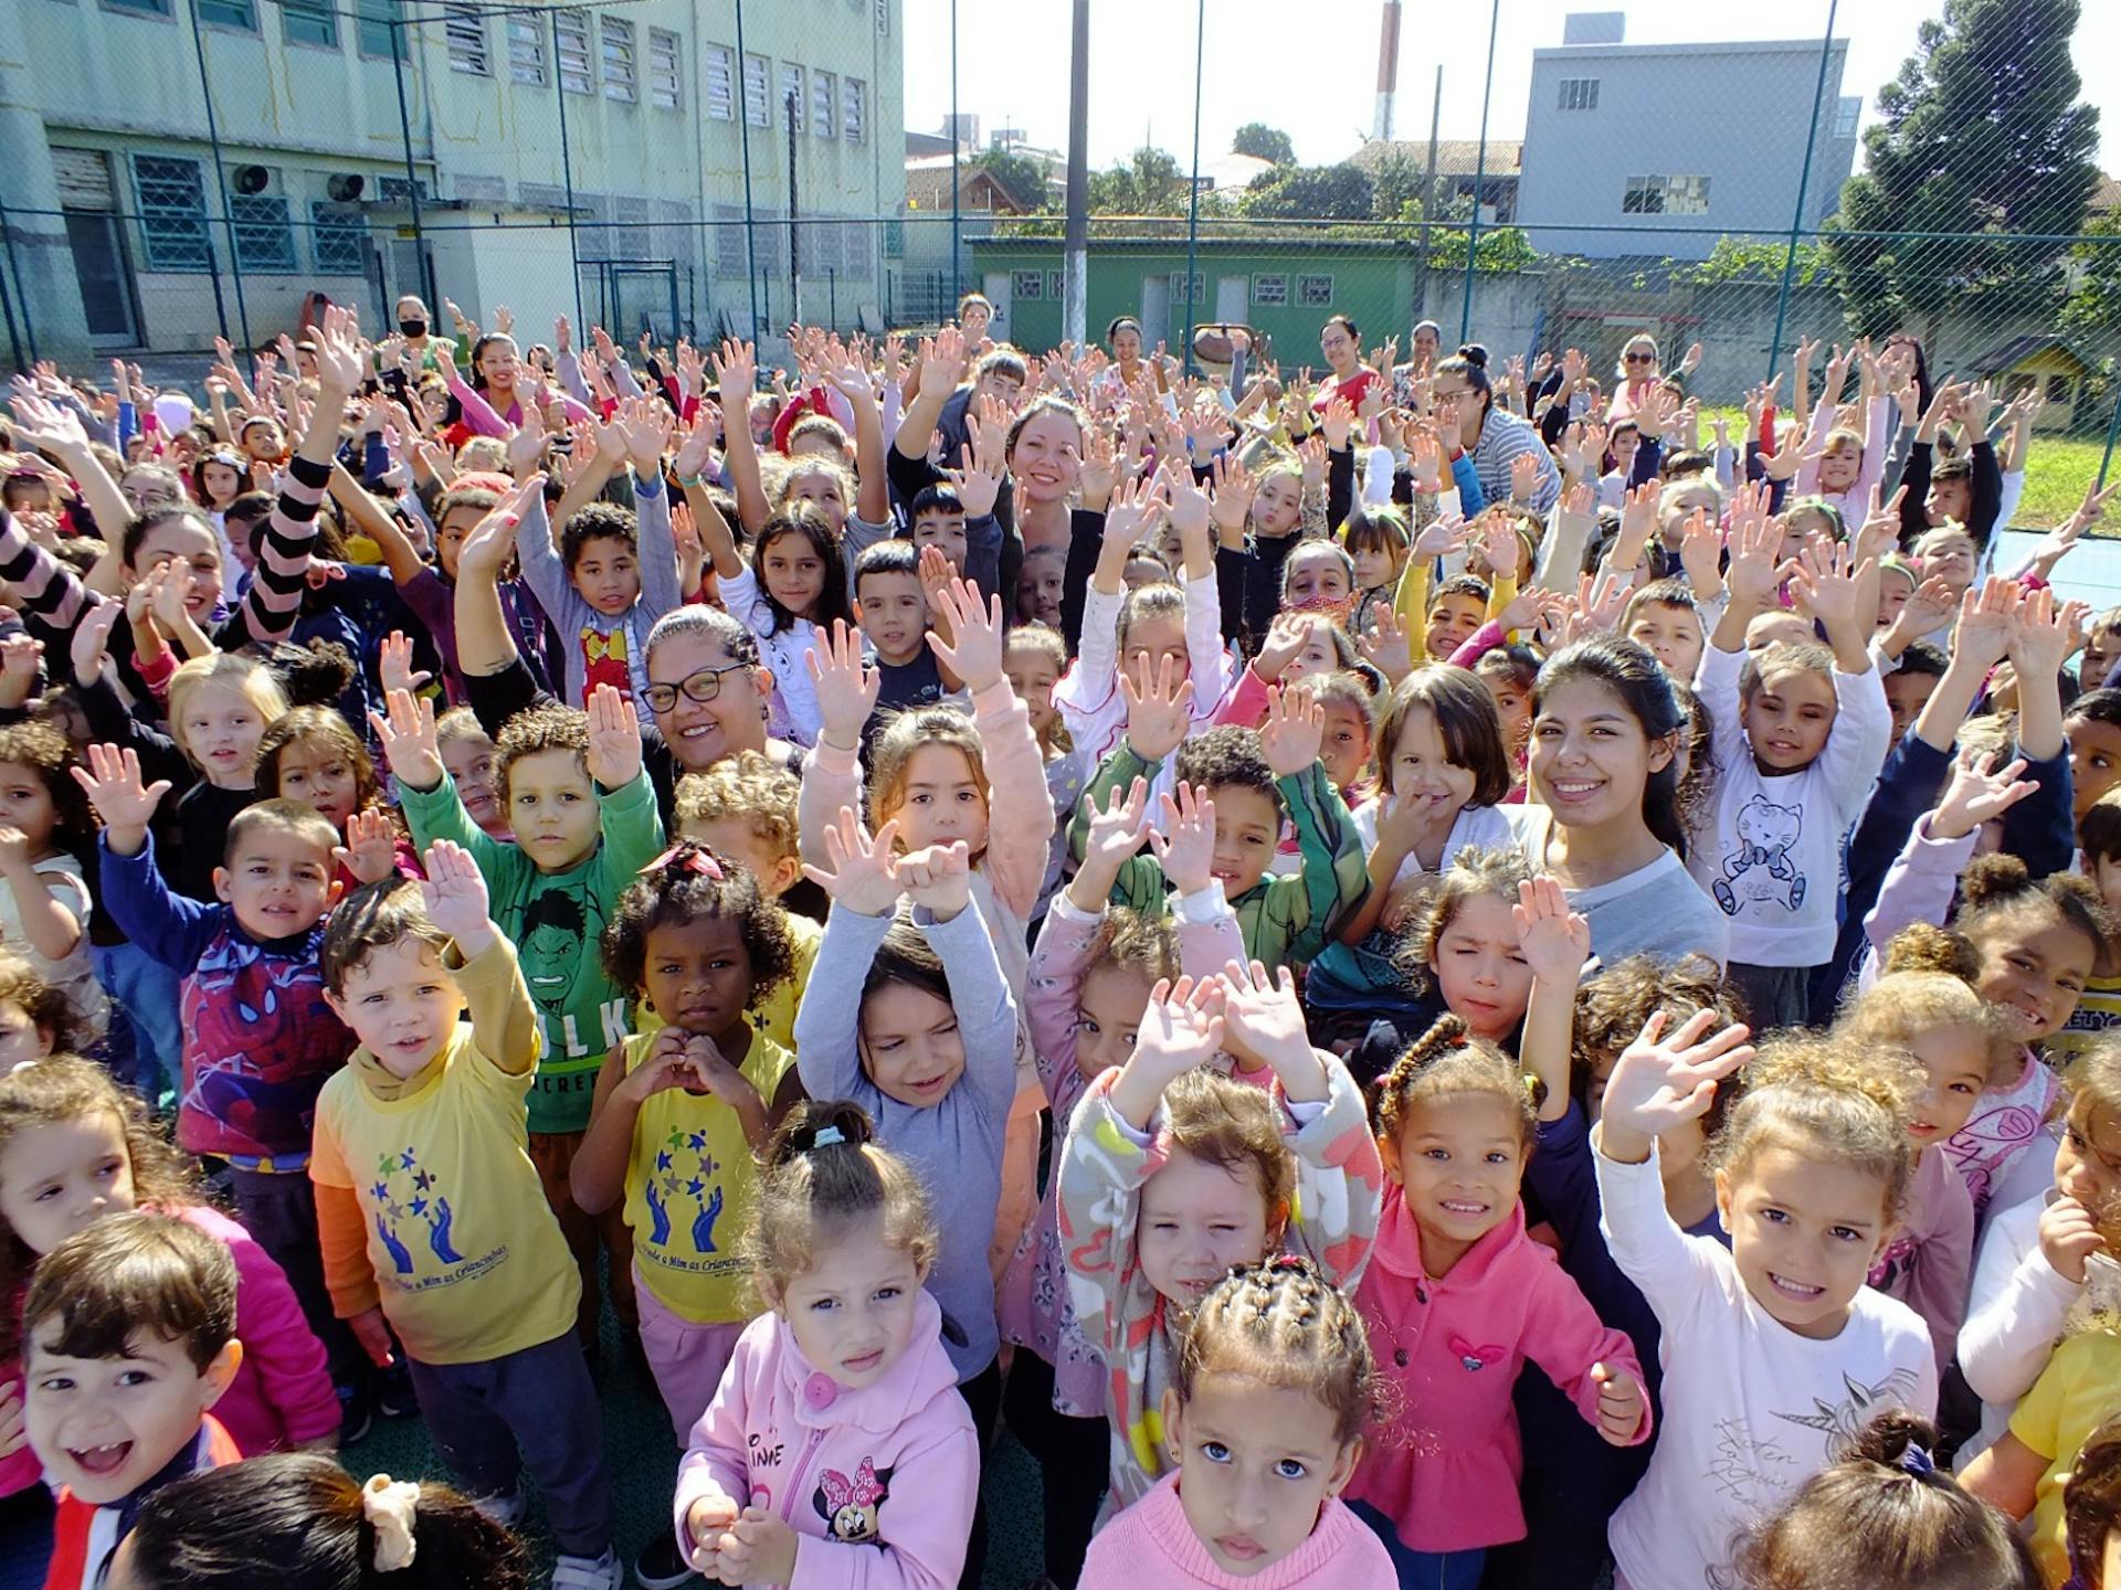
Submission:
M 1824 967 L 1835 954 L 1841 840 L 1871 799 L 1892 738 L 1875 668 L 1835 670 L 1835 725 L 1794 774 L 1763 774 L 1739 717 L 1743 653 L 1710 647 L 1695 689 L 1716 725 L 1716 820 L 1688 869 L 1731 918 L 1731 958 L 1750 967 Z

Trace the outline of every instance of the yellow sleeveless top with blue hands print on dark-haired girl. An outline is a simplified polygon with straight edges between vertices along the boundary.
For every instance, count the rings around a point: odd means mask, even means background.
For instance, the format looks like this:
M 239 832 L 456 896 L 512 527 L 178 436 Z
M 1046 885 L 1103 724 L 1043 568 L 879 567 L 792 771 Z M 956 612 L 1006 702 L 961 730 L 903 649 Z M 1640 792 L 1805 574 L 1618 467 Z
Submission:
M 626 1075 L 647 1060 L 653 1035 L 626 1039 Z M 795 1056 L 764 1032 L 738 1071 L 774 1102 Z M 759 1168 L 736 1111 L 719 1098 L 664 1088 L 634 1117 L 626 1166 L 626 1223 L 634 1268 L 655 1302 L 698 1325 L 734 1325 L 759 1312 L 736 1238 L 751 1219 Z

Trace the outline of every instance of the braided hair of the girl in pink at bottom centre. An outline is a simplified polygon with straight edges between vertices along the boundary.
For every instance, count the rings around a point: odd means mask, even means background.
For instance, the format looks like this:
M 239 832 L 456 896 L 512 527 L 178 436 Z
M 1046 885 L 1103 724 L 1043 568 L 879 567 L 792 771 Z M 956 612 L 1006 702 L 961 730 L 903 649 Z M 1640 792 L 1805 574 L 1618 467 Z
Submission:
M 1190 1403 L 1205 1374 L 1302 1391 L 1334 1416 L 1347 1446 L 1377 1418 L 1377 1365 L 1362 1314 L 1311 1259 L 1230 1270 L 1184 1321 L 1171 1389 Z

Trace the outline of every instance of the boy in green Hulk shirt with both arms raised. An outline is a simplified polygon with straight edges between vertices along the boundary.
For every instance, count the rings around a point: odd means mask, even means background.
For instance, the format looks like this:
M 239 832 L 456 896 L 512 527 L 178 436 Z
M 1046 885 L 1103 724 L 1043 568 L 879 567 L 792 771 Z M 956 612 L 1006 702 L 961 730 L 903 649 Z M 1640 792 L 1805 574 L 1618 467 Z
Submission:
M 414 840 L 448 840 L 471 852 L 494 895 L 494 920 L 522 960 L 545 1039 L 528 1094 L 530 1158 L 581 1272 L 581 1340 L 592 1344 L 598 1236 L 624 1259 L 626 1225 L 607 1213 L 600 1227 L 575 1204 L 568 1166 L 590 1130 L 604 1056 L 630 1028 L 634 990 L 613 982 L 581 946 L 602 933 L 619 895 L 664 840 L 634 708 L 615 687 L 598 685 L 588 714 L 547 702 L 509 719 L 498 753 L 513 844 L 494 840 L 464 812 L 441 761 L 433 702 L 414 704 L 395 691 L 388 721 L 373 723 Z M 630 1323 L 624 1261 L 613 1272 L 613 1308 Z

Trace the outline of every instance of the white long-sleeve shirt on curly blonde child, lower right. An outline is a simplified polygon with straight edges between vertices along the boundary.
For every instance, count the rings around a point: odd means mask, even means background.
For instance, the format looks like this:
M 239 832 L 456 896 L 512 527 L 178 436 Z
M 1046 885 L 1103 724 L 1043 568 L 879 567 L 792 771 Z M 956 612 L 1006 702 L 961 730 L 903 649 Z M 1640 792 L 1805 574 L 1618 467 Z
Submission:
M 1930 1331 L 1907 1304 L 1856 1291 L 1828 1340 L 1799 1336 L 1754 1302 L 1731 1251 L 1686 1236 L 1644 1164 L 1595 1155 L 1599 1230 L 1663 1327 L 1665 1420 L 1650 1471 L 1608 1539 L 1629 1590 L 1703 1590 L 1731 1543 L 1835 1463 L 1883 1408 L 1936 1412 Z

